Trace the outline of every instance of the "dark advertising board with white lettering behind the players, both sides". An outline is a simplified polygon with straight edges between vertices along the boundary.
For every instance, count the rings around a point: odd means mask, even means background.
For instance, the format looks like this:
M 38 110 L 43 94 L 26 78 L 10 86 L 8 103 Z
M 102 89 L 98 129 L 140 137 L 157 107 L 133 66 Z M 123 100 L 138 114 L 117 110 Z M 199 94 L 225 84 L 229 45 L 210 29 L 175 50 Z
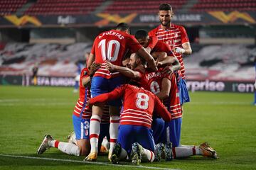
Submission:
M 33 86 L 33 79 L 30 75 L 22 76 L 3 76 L 0 75 L 1 85 L 20 85 Z M 238 93 L 253 93 L 254 82 L 252 81 L 212 81 L 206 80 L 187 80 L 188 90 L 195 91 L 228 91 Z M 74 86 L 75 77 L 42 77 L 36 79 L 36 86 Z

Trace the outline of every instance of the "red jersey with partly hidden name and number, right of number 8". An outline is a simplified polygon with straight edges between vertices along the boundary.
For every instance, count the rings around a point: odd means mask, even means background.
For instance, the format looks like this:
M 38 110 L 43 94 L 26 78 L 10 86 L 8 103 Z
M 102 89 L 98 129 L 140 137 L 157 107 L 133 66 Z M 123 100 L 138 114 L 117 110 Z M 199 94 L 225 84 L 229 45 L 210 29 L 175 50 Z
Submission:
M 147 89 L 154 94 L 158 94 L 163 86 L 162 80 L 164 78 L 169 79 L 171 81 L 170 94 L 168 98 L 164 99 L 163 103 L 164 106 L 166 106 L 168 111 L 171 113 L 172 119 L 181 118 L 182 111 L 180 100 L 178 97 L 178 86 L 176 83 L 176 77 L 174 76 L 174 74 L 171 74 L 171 76 L 168 74 L 164 74 L 162 70 L 163 68 L 159 68 L 157 72 L 140 72 L 142 74 L 140 84 L 144 87 L 144 89 Z

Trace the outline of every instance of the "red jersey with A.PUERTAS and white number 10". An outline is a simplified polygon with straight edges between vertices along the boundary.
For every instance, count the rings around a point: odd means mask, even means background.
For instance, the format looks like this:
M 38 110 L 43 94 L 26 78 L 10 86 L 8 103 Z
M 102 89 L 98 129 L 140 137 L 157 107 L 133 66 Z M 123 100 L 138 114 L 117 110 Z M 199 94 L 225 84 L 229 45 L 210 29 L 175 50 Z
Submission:
M 108 30 L 97 35 L 91 53 L 95 55 L 95 63 L 102 64 L 106 60 L 114 65 L 121 66 L 122 59 L 128 50 L 137 52 L 142 45 L 127 33 L 119 30 Z M 118 72 L 110 73 L 104 66 L 95 72 L 95 76 L 110 79 L 119 75 Z

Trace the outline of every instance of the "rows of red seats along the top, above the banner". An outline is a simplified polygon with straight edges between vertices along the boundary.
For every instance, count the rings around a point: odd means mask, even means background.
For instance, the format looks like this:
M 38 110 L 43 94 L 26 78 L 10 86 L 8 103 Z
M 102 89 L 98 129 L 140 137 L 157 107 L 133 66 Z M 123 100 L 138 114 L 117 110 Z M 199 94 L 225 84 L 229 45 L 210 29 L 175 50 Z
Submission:
M 206 11 L 256 11 L 255 0 L 167 0 L 153 1 L 149 0 L 38 0 L 31 2 L 28 0 L 3 0 L 0 1 L 1 16 L 16 13 L 22 9 L 21 14 L 32 16 L 50 16 L 50 15 L 86 15 L 97 9 L 101 13 L 156 13 L 159 4 L 169 3 L 174 11 L 191 11 L 196 13 Z M 24 6 L 28 4 L 28 6 Z

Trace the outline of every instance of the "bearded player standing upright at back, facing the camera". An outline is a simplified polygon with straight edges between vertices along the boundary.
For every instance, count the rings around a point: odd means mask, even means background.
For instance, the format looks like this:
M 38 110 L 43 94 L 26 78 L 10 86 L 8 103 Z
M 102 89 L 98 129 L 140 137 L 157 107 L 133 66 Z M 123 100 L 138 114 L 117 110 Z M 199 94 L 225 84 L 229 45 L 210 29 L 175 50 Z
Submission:
M 165 42 L 174 51 L 174 55 L 178 58 L 181 64 L 178 79 L 178 90 L 180 94 L 181 104 L 189 102 L 188 90 L 186 89 L 185 67 L 182 55 L 191 55 L 191 45 L 188 40 L 188 35 L 183 26 L 177 26 L 171 23 L 171 18 L 174 16 L 174 11 L 170 4 L 161 4 L 159 6 L 159 20 L 161 25 L 149 32 L 150 36 L 156 36 L 160 42 Z

